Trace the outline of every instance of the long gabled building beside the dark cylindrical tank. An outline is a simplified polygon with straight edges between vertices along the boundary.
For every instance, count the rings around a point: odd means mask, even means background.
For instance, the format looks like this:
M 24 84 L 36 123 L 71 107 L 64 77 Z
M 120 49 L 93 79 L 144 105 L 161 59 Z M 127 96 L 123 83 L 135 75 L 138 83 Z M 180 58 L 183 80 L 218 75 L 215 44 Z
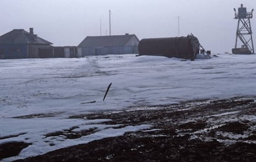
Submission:
M 80 44 L 82 56 L 138 54 L 136 35 L 87 36 Z

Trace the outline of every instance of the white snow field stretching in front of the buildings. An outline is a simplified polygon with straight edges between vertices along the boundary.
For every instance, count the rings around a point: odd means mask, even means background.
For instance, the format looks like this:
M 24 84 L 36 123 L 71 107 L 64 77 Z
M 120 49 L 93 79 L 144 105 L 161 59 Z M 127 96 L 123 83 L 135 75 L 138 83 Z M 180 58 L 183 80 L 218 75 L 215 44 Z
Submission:
M 2 161 L 150 128 L 118 128 L 103 124 L 108 119 L 69 116 L 194 99 L 255 96 L 256 55 L 218 56 L 195 61 L 135 54 L 0 60 L 0 144 L 32 143 L 18 156 Z M 46 137 L 71 127 L 98 131 L 78 139 Z

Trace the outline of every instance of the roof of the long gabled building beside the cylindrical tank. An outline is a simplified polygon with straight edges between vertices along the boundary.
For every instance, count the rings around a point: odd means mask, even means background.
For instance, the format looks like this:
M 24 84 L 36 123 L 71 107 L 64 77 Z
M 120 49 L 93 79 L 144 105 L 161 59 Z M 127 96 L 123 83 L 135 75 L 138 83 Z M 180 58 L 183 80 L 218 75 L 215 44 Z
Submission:
M 79 47 L 124 46 L 134 36 L 137 38 L 136 35 L 87 36 Z

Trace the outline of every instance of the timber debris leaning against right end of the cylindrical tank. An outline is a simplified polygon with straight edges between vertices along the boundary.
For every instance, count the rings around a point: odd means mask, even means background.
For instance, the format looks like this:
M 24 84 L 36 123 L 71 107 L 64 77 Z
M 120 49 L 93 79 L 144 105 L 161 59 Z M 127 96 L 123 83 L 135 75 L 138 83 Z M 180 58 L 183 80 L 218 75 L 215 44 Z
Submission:
M 198 39 L 192 33 L 189 35 L 189 37 L 191 38 L 191 43 L 193 46 L 194 58 L 197 53 L 200 52 L 200 54 L 203 54 L 206 59 L 210 59 L 210 53 L 208 53 L 208 51 L 203 48 L 203 46 L 199 43 Z

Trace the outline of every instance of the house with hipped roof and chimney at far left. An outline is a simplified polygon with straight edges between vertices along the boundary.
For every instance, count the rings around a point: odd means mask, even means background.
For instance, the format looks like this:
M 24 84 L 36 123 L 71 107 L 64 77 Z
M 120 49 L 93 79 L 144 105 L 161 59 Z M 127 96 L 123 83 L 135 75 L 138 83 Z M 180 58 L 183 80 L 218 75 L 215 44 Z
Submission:
M 53 43 L 23 29 L 14 29 L 0 36 L 0 59 L 39 58 L 38 49 Z

